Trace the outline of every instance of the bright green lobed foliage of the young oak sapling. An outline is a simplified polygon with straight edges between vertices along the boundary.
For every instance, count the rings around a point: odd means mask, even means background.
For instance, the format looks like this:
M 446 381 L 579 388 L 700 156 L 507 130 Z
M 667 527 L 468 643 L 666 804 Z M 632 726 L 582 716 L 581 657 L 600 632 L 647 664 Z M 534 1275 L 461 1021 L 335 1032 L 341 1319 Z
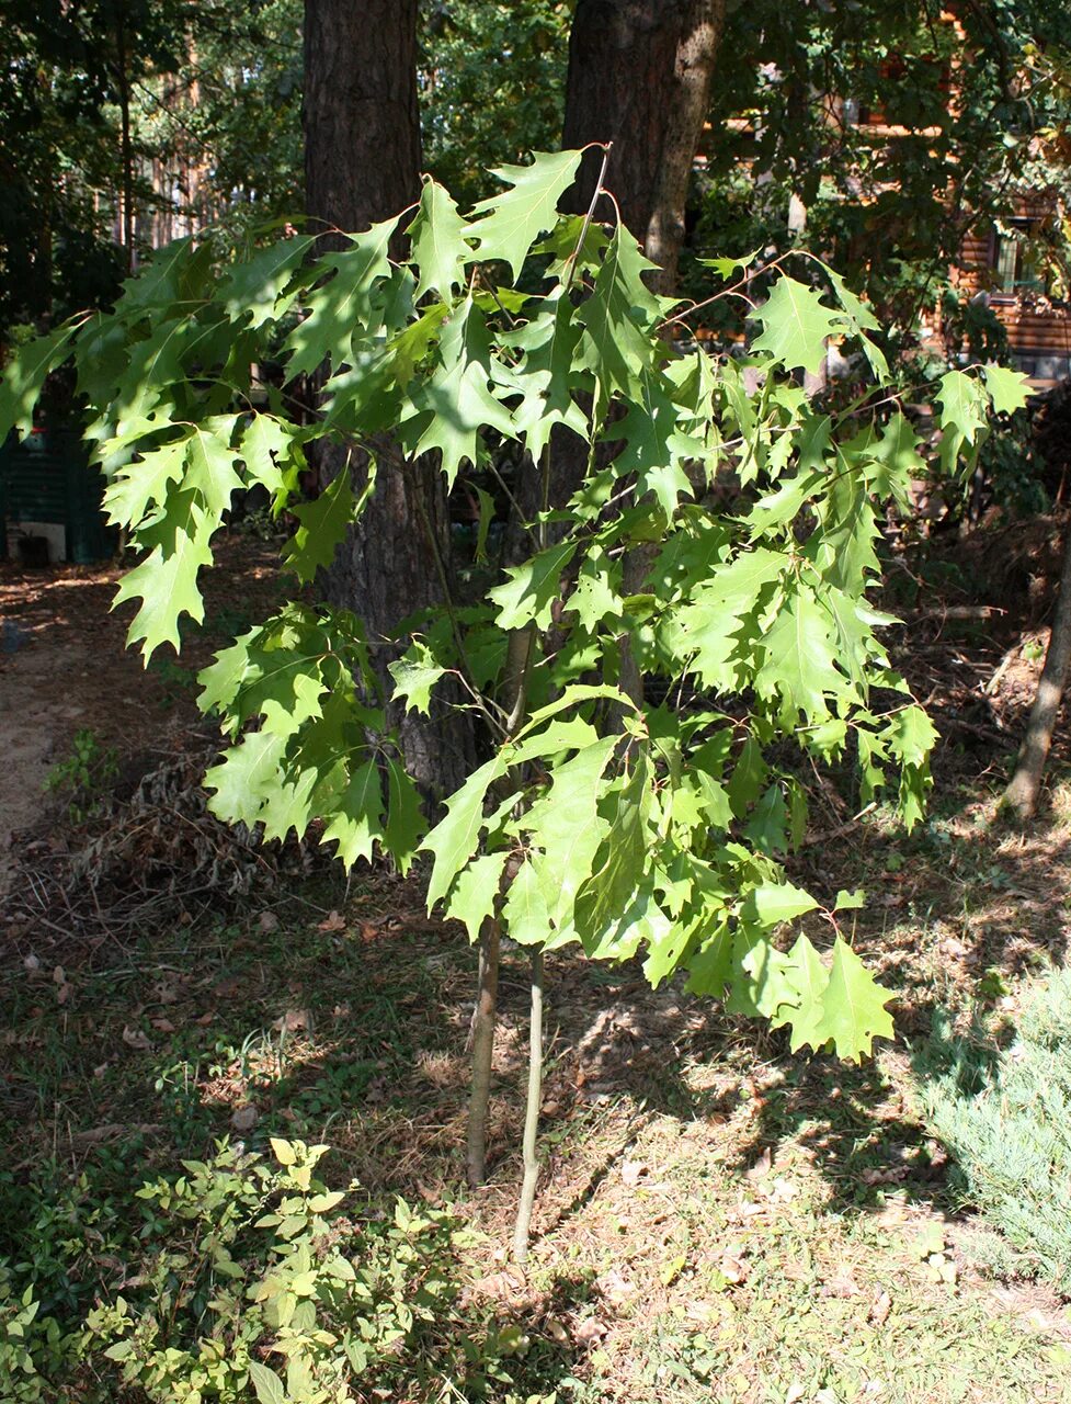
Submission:
M 787 743 L 817 762 L 853 757 L 863 802 L 890 790 L 908 826 L 922 813 L 935 733 L 890 668 L 877 630 L 893 621 L 867 600 L 879 514 L 905 500 L 921 445 L 876 393 L 876 322 L 835 274 L 825 292 L 782 275 L 752 309 L 744 359 L 674 347 L 672 305 L 648 289 L 632 234 L 557 215 L 578 161 L 504 167 L 505 190 L 467 216 L 427 180 L 415 213 L 320 258 L 299 236 L 218 271 L 205 246 L 175 244 L 114 313 L 28 348 L 0 411 L 25 423 L 73 348 L 105 503 L 140 557 L 117 602 L 138 601 L 131 642 L 146 658 L 177 647 L 182 614 L 202 616 L 199 571 L 244 484 L 291 504 L 288 566 L 310 581 L 376 473 L 435 453 L 452 486 L 515 441 L 549 503 L 553 456 L 580 446 L 567 505 L 522 524 L 526 559 L 463 612 L 415 621 L 393 668 L 394 696 L 417 710 L 446 680 L 460 688 L 487 757 L 423 840 L 428 900 L 472 935 L 503 920 L 521 943 L 641 956 L 654 983 L 679 972 L 789 1025 L 794 1046 L 856 1057 L 891 1032 L 882 991 L 839 938 L 828 965 L 804 934 L 783 949 L 786 924 L 818 910 L 782 868 L 807 816 L 783 755 Z M 856 344 L 874 379 L 839 416 L 799 385 L 830 337 Z M 253 409 L 272 338 L 284 383 Z M 321 366 L 307 424 L 288 388 Z M 946 375 L 946 459 L 1020 396 L 1012 372 Z M 341 473 L 302 504 L 298 470 L 319 438 L 371 468 L 362 490 Z M 347 863 L 376 845 L 411 861 L 423 821 L 376 696 L 375 643 L 344 612 L 295 604 L 219 656 L 201 680 L 232 740 L 209 774 L 216 813 L 279 835 L 319 823 Z M 630 695 L 625 660 L 654 701 Z

